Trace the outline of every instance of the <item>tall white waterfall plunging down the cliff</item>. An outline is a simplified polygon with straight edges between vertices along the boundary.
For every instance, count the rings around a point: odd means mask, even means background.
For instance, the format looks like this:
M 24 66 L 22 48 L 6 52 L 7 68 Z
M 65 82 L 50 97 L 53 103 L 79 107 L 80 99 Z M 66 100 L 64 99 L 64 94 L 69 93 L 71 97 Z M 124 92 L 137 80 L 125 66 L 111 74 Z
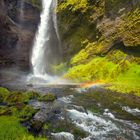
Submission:
M 50 78 L 51 66 L 59 57 L 59 34 L 54 8 L 57 0 L 42 0 L 40 24 L 34 40 L 31 64 L 35 77 Z

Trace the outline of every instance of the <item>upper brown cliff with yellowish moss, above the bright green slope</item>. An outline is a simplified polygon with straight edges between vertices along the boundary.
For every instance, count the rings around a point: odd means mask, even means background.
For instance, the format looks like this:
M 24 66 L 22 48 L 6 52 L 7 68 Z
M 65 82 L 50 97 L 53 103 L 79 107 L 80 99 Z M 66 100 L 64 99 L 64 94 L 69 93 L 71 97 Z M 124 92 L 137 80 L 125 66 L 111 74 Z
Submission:
M 108 52 L 120 42 L 126 47 L 139 46 L 139 6 L 137 0 L 59 1 L 58 21 L 64 56 L 72 57 L 85 48 L 85 40 L 103 44 L 98 54 Z

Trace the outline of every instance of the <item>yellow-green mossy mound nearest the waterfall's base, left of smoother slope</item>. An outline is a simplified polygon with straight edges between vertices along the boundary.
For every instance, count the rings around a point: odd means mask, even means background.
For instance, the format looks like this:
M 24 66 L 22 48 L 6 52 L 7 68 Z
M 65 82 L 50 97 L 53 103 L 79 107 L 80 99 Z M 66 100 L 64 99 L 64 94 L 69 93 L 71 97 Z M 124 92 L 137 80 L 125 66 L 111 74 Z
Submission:
M 115 66 L 105 58 L 96 57 L 85 65 L 72 67 L 65 77 L 79 81 L 107 80 Z

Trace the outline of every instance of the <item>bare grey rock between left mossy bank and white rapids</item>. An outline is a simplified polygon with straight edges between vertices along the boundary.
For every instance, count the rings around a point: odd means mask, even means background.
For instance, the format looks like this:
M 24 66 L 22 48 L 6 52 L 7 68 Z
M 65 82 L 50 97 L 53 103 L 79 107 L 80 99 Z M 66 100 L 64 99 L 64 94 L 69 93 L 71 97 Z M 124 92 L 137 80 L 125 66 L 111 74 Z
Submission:
M 31 128 L 33 131 L 39 132 L 43 125 L 48 121 L 56 121 L 61 116 L 61 107 L 57 102 L 39 102 L 39 101 L 32 101 L 30 105 L 34 108 L 39 110 L 33 117 L 31 121 Z

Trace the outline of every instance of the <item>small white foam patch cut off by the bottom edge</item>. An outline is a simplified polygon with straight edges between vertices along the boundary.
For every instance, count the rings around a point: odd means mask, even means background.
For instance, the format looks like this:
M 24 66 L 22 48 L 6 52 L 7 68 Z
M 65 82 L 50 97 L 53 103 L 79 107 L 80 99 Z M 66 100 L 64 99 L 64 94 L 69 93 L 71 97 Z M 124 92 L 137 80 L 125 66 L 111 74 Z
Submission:
M 52 133 L 53 140 L 74 140 L 74 136 L 68 132 Z

